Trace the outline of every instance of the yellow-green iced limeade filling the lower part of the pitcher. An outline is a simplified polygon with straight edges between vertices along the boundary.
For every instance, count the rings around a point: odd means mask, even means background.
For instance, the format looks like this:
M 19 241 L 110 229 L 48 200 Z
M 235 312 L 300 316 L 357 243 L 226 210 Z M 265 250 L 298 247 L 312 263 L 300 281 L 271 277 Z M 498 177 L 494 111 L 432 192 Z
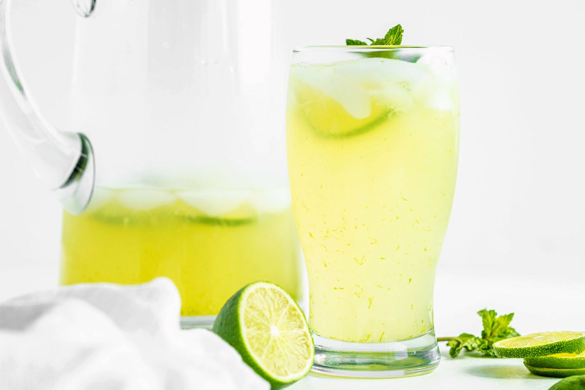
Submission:
M 183 316 L 216 315 L 244 285 L 266 280 L 298 298 L 299 245 L 287 191 L 98 188 L 64 213 L 61 283 L 171 278 Z

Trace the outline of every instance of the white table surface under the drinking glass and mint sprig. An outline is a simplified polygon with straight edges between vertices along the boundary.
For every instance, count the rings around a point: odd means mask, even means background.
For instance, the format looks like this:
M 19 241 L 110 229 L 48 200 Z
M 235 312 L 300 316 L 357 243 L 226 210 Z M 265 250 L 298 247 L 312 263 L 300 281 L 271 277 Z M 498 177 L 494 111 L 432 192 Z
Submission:
M 0 265 L 0 301 L 56 285 L 57 264 L 42 267 Z M 479 335 L 477 310 L 515 312 L 512 326 L 521 334 L 549 330 L 585 330 L 585 282 L 523 278 L 522 275 L 457 274 L 441 270 L 435 286 L 435 329 L 439 337 L 467 332 Z M 548 389 L 559 379 L 530 374 L 522 360 L 484 358 L 474 354 L 442 360 L 430 374 L 393 379 L 347 379 L 309 374 L 290 390 L 377 389 Z

